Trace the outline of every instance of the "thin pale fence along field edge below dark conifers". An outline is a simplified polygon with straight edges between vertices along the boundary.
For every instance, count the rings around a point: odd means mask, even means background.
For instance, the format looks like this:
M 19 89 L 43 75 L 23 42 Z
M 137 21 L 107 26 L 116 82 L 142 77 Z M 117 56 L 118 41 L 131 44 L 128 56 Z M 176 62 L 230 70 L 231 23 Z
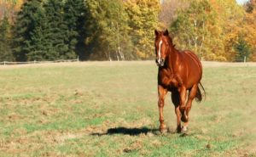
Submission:
M 79 62 L 78 59 L 59 59 L 54 61 L 30 61 L 30 62 L 9 62 L 9 61 L 3 61 L 0 62 L 0 65 L 11 65 L 11 64 L 46 64 L 46 63 L 61 63 L 61 62 Z

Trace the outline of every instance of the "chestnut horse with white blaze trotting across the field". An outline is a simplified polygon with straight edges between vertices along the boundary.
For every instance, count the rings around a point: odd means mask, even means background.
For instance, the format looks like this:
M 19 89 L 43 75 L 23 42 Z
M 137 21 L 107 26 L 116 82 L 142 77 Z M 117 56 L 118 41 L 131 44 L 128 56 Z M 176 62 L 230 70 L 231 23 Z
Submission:
M 168 30 L 155 30 L 154 35 L 155 62 L 158 66 L 160 132 L 166 130 L 163 109 L 166 93 L 168 92 L 172 93 L 172 103 L 175 106 L 177 132 L 186 132 L 189 126 L 189 111 L 194 98 L 201 102 L 203 96 L 201 89 L 205 95 L 205 89 L 201 84 L 201 61 L 192 51 L 177 50 L 172 43 L 172 37 L 169 36 Z M 183 126 L 181 121 L 183 121 Z

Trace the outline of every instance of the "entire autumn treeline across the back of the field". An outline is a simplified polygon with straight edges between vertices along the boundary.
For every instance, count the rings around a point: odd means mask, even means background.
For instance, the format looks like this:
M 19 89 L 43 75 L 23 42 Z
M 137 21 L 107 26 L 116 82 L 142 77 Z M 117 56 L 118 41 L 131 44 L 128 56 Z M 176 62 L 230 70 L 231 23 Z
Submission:
M 154 29 L 205 60 L 256 58 L 256 1 L 0 2 L 0 61 L 154 59 Z

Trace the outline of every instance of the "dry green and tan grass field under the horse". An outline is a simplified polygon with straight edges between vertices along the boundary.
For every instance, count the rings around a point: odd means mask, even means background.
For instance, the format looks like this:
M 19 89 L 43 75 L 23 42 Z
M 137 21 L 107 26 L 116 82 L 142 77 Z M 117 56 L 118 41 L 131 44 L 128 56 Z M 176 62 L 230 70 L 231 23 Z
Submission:
M 160 134 L 154 62 L 0 67 L 0 156 L 256 156 L 256 64 L 205 63 L 207 99 Z

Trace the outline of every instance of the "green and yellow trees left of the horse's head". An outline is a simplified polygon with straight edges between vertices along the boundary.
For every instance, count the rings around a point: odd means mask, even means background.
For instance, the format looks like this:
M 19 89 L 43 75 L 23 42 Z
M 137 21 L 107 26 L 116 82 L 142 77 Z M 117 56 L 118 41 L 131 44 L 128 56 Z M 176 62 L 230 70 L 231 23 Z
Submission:
M 3 17 L 1 60 L 150 59 L 158 0 L 28 0 Z

